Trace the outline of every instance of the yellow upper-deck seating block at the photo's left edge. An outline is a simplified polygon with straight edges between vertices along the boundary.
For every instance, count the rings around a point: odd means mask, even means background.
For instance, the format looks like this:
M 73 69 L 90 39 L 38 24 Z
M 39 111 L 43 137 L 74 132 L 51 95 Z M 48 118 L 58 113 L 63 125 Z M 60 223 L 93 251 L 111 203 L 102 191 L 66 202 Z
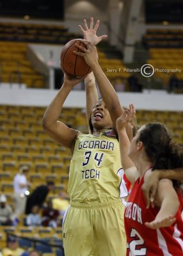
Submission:
M 28 44 L 0 42 L 1 82 L 26 84 L 28 87 L 44 88 L 45 77 L 33 68 L 26 57 Z

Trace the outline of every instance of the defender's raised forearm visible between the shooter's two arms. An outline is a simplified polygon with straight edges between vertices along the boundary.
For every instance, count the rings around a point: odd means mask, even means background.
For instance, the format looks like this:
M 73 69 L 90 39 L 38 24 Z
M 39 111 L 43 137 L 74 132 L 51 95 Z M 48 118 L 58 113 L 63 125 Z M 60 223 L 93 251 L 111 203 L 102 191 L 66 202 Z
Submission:
M 95 76 L 93 75 L 93 72 L 88 74 L 86 78 L 84 79 L 85 84 L 85 90 L 86 90 L 86 118 L 87 118 L 87 124 L 88 124 L 88 130 L 91 133 L 90 130 L 90 116 L 92 115 L 93 107 L 95 106 L 96 102 L 99 100 L 98 92 L 95 84 Z

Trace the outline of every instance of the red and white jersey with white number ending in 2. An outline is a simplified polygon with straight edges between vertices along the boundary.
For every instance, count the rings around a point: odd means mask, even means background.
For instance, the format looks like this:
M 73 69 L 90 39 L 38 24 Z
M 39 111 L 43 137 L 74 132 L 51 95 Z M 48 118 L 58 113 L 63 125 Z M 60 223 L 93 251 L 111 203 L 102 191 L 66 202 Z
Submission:
M 136 180 L 125 208 L 125 231 L 127 235 L 127 255 L 181 256 L 183 255 L 183 221 L 181 212 L 183 201 L 179 191 L 180 207 L 173 225 L 152 229 L 144 225 L 155 219 L 159 207 L 147 209 L 141 190 L 143 178 Z

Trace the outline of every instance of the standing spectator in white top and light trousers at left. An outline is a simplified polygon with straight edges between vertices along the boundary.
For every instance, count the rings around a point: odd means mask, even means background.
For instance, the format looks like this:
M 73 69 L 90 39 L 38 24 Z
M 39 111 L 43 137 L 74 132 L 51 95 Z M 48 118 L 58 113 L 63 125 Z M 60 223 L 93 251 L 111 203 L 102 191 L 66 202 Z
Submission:
M 19 173 L 17 173 L 13 180 L 14 187 L 14 207 L 15 216 L 19 218 L 21 214 L 24 214 L 26 208 L 26 191 L 29 190 L 29 182 L 27 175 L 29 172 L 28 166 L 24 165 L 20 167 Z

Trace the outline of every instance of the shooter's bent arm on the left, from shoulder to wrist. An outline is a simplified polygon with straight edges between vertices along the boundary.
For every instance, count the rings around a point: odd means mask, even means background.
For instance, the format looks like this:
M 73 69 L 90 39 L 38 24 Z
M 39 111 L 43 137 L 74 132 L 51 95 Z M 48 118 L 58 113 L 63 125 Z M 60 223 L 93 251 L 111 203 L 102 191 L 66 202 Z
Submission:
M 82 80 L 83 78 L 70 79 L 67 74 L 64 74 L 63 85 L 56 94 L 56 97 L 52 100 L 51 104 L 47 107 L 42 120 L 42 127 L 44 131 L 47 132 L 53 140 L 70 148 L 71 150 L 74 146 L 74 141 L 78 132 L 70 129 L 67 125 L 60 122 L 58 118 L 68 94 L 72 88 Z

